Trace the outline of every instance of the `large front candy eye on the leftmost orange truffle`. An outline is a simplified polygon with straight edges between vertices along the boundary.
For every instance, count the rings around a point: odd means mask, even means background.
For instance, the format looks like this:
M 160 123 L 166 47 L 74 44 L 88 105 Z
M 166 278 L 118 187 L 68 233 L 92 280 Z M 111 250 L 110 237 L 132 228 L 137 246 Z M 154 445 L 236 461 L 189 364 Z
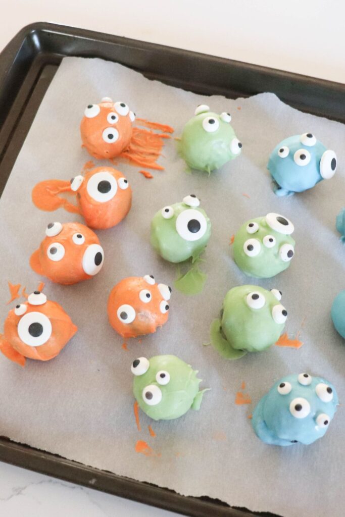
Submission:
M 47 343 L 52 334 L 49 318 L 41 312 L 28 312 L 18 323 L 18 336 L 28 346 Z

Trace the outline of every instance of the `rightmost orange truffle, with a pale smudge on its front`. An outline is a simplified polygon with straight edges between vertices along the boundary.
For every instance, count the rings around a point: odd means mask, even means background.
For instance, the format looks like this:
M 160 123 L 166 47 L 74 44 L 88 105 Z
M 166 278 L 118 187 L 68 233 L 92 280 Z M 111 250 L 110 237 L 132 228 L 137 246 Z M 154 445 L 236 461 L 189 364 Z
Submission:
M 171 287 L 152 275 L 125 278 L 109 295 L 110 325 L 124 338 L 156 332 L 168 320 L 170 296 Z

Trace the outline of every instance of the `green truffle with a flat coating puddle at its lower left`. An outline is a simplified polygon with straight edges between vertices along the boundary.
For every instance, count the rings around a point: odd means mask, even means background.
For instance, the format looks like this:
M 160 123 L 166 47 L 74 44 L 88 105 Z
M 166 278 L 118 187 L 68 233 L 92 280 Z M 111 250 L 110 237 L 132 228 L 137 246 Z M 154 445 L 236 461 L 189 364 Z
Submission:
M 247 352 L 261 352 L 276 343 L 288 312 L 281 305 L 281 292 L 258 285 L 232 288 L 224 298 L 221 318 L 211 325 L 211 343 L 226 359 L 239 359 Z

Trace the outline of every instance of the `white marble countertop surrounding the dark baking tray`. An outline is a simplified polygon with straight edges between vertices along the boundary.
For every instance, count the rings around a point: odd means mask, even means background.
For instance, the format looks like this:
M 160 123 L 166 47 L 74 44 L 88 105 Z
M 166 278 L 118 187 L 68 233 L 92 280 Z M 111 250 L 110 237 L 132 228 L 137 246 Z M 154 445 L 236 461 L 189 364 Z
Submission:
M 25 25 L 51 21 L 345 83 L 342 0 L 150 0 L 144 9 L 141 0 L 0 0 L 0 6 L 0 49 Z M 0 463 L 0 515 L 176 514 Z

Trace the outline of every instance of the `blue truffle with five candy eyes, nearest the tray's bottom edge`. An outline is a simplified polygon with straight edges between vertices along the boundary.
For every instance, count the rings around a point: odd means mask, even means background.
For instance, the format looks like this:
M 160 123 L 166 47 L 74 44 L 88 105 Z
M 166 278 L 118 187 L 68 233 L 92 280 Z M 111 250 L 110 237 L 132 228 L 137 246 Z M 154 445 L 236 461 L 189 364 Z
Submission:
M 338 404 L 334 386 L 321 377 L 288 375 L 254 409 L 253 429 L 269 445 L 309 445 L 324 436 Z

